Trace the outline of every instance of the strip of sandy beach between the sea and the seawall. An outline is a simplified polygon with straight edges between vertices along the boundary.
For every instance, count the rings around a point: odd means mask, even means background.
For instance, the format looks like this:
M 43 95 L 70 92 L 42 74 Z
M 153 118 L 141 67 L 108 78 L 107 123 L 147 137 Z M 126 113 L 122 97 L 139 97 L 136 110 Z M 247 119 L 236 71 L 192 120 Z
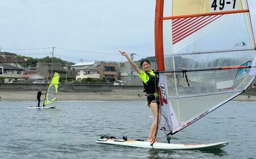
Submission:
M 0 90 L 2 101 L 36 101 L 37 90 Z M 42 91 L 45 93 L 45 91 Z M 139 96 L 141 95 L 141 96 Z M 43 100 L 44 95 L 41 99 Z M 109 92 L 71 92 L 59 91 L 57 101 L 146 101 L 143 91 L 113 90 Z M 256 102 L 256 96 L 248 99 L 247 95 L 239 95 L 232 101 Z

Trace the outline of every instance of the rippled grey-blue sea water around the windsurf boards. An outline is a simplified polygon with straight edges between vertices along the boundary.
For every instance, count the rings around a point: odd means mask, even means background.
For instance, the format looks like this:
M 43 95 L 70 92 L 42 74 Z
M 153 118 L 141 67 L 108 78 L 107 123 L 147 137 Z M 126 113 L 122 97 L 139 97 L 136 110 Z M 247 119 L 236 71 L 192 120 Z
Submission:
M 255 102 L 229 102 L 183 129 L 172 143 L 229 141 L 222 150 L 152 150 L 96 144 L 102 134 L 147 139 L 145 102 L 0 102 L 0 158 L 256 158 Z M 166 142 L 163 132 L 159 140 Z

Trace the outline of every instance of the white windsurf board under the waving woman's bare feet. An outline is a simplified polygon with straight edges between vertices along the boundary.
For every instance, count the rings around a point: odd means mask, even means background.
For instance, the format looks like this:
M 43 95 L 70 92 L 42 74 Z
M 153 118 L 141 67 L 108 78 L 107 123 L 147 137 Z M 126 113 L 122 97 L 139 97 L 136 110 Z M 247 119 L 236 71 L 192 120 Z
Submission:
M 168 144 L 154 143 L 152 146 L 147 141 L 123 140 L 123 139 L 108 139 L 101 137 L 96 141 L 98 144 L 123 145 L 127 147 L 151 148 L 151 149 L 171 149 L 171 150 L 208 150 L 221 149 L 228 145 L 228 142 L 213 143 L 213 144 Z

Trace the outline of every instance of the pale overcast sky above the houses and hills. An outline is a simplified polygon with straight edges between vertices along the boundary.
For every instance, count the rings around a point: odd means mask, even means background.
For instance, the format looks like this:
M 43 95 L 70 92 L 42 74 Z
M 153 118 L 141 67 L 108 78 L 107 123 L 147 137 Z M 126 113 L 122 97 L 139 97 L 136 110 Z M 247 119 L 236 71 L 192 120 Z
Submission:
M 248 2 L 255 32 L 256 1 Z M 42 58 L 56 47 L 55 57 L 75 63 L 126 61 L 118 50 L 136 53 L 134 60 L 154 56 L 155 0 L 1 0 L 0 7 L 2 52 Z

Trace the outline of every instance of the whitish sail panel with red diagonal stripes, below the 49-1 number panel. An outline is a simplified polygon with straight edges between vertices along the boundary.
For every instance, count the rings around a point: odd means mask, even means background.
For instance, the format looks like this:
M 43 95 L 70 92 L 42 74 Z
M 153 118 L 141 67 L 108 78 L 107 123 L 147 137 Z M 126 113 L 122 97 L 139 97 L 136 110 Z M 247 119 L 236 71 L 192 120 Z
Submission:
M 177 19 L 163 22 L 164 54 L 255 47 L 248 13 L 202 16 L 188 20 L 187 23 L 176 21 Z M 173 27 L 174 22 L 176 26 Z

